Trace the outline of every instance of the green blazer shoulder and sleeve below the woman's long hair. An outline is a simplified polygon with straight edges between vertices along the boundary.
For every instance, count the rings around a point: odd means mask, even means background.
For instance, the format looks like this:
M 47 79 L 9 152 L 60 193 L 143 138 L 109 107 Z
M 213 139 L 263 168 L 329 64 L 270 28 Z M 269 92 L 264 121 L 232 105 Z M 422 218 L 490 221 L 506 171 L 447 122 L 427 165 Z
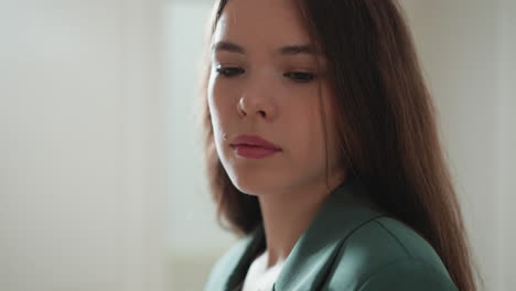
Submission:
M 341 244 L 329 290 L 456 290 L 432 246 L 393 217 L 363 224 Z

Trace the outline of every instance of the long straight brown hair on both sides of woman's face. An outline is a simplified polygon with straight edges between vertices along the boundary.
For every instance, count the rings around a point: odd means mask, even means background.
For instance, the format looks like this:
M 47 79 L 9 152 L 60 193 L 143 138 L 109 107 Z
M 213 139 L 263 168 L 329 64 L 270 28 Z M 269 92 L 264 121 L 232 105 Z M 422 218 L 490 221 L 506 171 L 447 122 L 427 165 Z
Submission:
M 460 290 L 476 290 L 459 202 L 402 9 L 396 0 L 294 0 L 329 62 L 338 159 L 385 211 L 418 231 Z M 219 0 L 213 34 L 227 0 Z M 209 37 L 211 37 L 209 34 Z M 208 41 L 209 43 L 211 41 Z M 209 50 L 206 50 L 209 51 Z M 206 62 L 204 94 L 211 65 Z M 204 98 L 207 172 L 217 217 L 239 236 L 261 222 L 258 200 L 238 191 L 215 151 Z

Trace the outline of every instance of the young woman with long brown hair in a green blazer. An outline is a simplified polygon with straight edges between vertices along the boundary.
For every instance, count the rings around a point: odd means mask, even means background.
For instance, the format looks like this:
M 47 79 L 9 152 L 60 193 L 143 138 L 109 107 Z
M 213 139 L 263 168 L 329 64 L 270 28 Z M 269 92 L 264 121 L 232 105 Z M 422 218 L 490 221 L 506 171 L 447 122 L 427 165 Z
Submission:
M 395 0 L 221 0 L 214 200 L 241 238 L 206 290 L 476 290 L 434 108 Z

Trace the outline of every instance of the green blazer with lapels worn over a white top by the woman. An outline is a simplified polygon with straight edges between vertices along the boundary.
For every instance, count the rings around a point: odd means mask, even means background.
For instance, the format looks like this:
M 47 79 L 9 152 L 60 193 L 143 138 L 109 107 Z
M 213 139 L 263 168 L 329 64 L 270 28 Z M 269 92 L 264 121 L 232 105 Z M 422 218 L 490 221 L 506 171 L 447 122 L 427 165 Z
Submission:
M 240 290 L 265 247 L 260 224 L 215 262 L 205 291 Z M 347 182 L 332 192 L 295 242 L 272 290 L 458 289 L 430 244 Z

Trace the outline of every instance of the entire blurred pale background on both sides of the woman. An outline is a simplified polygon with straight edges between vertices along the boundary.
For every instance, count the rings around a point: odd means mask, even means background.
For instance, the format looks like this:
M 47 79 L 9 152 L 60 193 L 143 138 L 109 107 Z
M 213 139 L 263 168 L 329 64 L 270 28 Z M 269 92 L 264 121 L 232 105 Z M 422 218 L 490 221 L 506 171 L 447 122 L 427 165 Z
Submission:
M 0 0 L 0 290 L 200 290 L 212 1 Z M 516 285 L 516 1 L 404 0 L 485 290 Z

